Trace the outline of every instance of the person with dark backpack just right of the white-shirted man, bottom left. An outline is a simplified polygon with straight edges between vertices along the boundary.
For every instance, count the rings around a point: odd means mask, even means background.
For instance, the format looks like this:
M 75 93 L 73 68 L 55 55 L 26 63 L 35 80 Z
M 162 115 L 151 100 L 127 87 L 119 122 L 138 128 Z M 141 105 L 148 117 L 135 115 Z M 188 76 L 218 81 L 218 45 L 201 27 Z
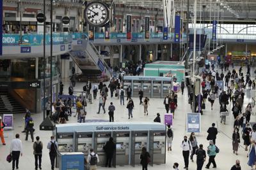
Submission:
M 35 155 L 35 170 L 39 167 L 42 169 L 42 150 L 43 150 L 43 143 L 40 141 L 39 136 L 36 136 L 36 141 L 33 144 L 33 150 Z

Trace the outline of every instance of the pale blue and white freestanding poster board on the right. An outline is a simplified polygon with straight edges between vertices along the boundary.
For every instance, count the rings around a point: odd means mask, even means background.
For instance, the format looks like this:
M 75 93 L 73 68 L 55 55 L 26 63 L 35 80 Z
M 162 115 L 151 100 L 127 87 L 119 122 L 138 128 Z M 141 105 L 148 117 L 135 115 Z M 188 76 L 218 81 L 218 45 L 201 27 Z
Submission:
M 201 132 L 201 113 L 187 113 L 187 132 Z

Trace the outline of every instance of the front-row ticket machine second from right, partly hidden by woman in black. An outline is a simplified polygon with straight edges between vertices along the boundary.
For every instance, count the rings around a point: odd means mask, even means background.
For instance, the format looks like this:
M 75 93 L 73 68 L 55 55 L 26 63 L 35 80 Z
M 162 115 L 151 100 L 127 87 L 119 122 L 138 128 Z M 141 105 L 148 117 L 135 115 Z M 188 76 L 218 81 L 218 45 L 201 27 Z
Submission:
M 135 164 L 140 164 L 140 154 L 141 149 L 145 146 L 147 148 L 148 142 L 148 132 L 135 132 L 135 142 L 134 142 L 134 162 Z

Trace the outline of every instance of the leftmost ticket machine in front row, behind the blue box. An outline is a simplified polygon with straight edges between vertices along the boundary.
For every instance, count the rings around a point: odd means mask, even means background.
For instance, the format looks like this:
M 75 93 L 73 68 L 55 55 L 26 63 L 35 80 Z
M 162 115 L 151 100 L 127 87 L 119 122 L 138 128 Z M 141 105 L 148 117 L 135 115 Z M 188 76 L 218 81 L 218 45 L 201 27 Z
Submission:
M 56 134 L 59 152 L 74 152 L 74 132 L 61 132 Z M 59 166 L 59 158 L 56 159 L 56 167 Z

